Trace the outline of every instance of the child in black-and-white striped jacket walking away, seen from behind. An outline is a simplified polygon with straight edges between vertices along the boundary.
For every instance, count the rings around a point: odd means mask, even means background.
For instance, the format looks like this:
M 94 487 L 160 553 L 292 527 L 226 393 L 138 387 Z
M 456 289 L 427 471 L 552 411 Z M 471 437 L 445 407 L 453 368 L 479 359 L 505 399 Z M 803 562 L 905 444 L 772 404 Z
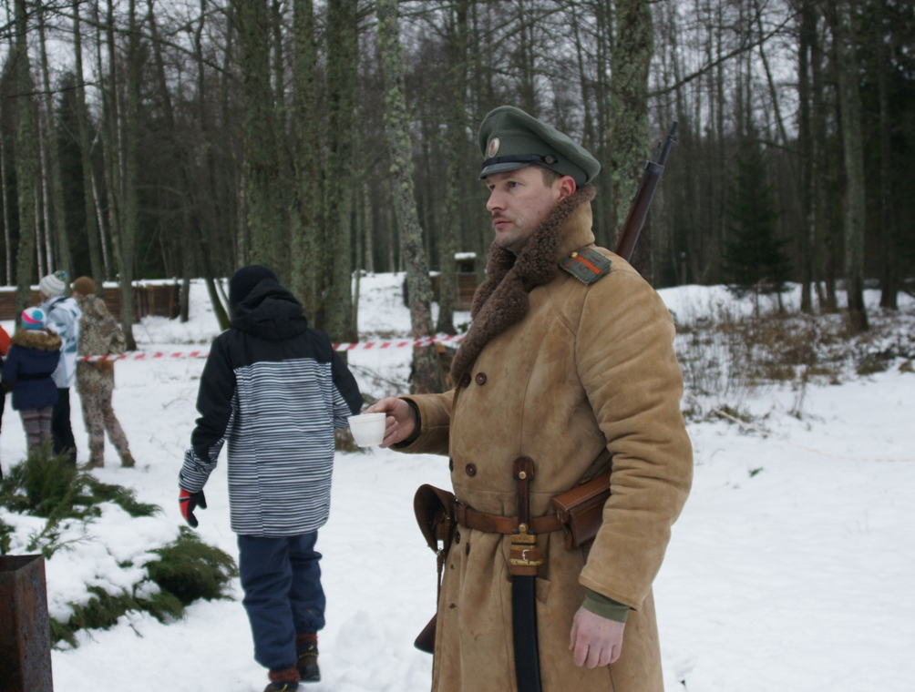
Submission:
M 273 271 L 236 271 L 229 302 L 235 318 L 200 377 L 179 506 L 196 527 L 194 509 L 206 508 L 203 485 L 228 441 L 231 529 L 254 659 L 270 670 L 268 692 L 289 691 L 320 679 L 325 599 L 315 542 L 330 509 L 334 430 L 347 427 L 362 397 L 328 335 L 308 326 Z

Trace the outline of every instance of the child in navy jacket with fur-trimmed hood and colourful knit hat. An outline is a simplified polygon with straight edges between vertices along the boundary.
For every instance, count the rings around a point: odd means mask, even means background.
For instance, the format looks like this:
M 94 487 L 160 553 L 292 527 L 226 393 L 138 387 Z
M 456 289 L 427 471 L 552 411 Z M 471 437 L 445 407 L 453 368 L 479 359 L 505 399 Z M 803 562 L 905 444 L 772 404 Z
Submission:
M 28 451 L 51 436 L 51 418 L 58 390 L 51 374 L 60 360 L 60 337 L 46 328 L 47 315 L 30 307 L 22 313 L 23 328 L 13 336 L 2 377 L 6 391 L 13 392 L 13 408 L 22 416 Z

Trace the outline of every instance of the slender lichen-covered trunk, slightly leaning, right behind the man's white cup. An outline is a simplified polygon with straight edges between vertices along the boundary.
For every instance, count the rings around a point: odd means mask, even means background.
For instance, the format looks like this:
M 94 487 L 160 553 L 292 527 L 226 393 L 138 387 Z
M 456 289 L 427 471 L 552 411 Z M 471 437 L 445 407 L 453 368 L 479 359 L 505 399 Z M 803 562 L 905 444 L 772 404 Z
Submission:
M 406 260 L 410 325 L 414 338 L 419 338 L 432 333 L 429 307 L 432 286 L 423 251 L 423 229 L 416 216 L 413 158 L 408 133 L 410 122 L 404 97 L 404 54 L 397 21 L 397 0 L 378 0 L 375 13 L 378 16 L 378 52 L 381 54 L 384 73 L 385 129 L 391 150 L 394 210 L 401 230 L 401 256 Z M 441 391 L 435 346 L 414 348 L 411 390 L 414 393 Z

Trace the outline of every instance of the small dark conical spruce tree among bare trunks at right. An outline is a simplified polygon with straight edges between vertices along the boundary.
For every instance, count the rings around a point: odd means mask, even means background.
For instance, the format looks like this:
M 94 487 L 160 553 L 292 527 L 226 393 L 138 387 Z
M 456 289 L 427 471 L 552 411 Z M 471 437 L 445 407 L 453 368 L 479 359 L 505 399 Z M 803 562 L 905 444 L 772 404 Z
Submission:
M 779 212 L 766 176 L 766 160 L 752 126 L 737 154 L 735 186 L 727 201 L 724 275 L 738 295 L 782 293 L 791 276 L 784 240 L 776 235 Z

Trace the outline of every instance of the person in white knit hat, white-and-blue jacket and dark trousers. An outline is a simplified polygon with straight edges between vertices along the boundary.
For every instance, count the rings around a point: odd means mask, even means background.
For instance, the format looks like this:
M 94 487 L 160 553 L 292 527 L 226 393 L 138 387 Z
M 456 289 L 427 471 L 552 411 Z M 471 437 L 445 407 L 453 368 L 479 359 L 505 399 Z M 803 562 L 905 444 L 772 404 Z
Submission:
M 48 315 L 48 329 L 59 335 L 63 346 L 60 361 L 51 378 L 58 388 L 54 404 L 51 434 L 54 453 L 66 453 L 76 463 L 76 441 L 70 426 L 70 388 L 76 380 L 76 357 L 80 350 L 80 305 L 70 297 L 70 277 L 66 271 L 55 271 L 38 282 L 41 309 Z

